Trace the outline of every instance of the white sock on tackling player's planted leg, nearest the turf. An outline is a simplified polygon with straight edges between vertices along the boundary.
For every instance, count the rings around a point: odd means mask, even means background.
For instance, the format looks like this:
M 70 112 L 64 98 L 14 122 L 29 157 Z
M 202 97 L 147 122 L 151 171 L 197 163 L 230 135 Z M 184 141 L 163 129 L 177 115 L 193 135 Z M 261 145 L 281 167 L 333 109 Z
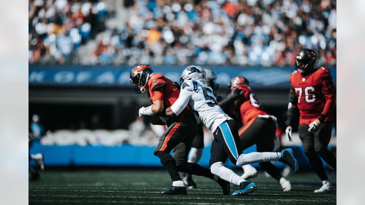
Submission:
M 241 182 L 245 181 L 232 170 L 228 169 L 223 165 L 223 162 L 216 162 L 210 166 L 211 172 L 218 175 L 221 179 L 231 182 L 235 185 L 241 185 Z

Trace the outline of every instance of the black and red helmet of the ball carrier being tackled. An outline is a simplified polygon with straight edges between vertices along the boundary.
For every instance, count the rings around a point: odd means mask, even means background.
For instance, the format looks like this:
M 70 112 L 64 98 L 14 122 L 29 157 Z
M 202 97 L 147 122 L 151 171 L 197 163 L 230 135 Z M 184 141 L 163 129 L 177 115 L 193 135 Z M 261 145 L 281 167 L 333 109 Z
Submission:
M 148 80 L 150 79 L 151 74 L 153 73 L 153 70 L 151 69 L 151 66 L 147 64 L 141 64 L 138 66 L 135 66 L 130 74 L 130 83 L 135 84 L 136 86 L 133 88 L 134 92 L 137 94 L 143 93 L 146 91 L 146 84 Z

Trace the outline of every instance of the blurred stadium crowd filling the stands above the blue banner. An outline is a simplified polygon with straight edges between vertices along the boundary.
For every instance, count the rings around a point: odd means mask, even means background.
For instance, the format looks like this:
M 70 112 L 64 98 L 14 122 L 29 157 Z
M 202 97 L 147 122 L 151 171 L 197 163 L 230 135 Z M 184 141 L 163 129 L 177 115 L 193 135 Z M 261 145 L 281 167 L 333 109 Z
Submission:
M 108 2 L 30 0 L 29 63 L 291 66 L 302 47 L 336 63 L 335 0 Z

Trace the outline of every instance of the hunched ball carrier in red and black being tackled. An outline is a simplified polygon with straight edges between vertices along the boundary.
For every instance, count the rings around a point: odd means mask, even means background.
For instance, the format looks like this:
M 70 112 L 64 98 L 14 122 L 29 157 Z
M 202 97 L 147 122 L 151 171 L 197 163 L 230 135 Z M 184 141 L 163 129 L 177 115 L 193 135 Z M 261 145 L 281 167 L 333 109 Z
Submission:
M 170 107 L 179 96 L 180 91 L 173 82 L 162 74 L 155 74 L 149 65 L 141 64 L 132 69 L 130 83 L 135 84 L 134 91 L 138 94 L 148 90 L 148 97 L 152 102 L 152 105 L 139 109 L 139 116 L 151 116 L 152 124 L 164 124 L 163 120 L 168 125 L 154 150 L 154 155 L 160 158 L 161 164 L 172 179 L 170 189 L 162 190 L 160 194 L 187 194 L 178 171 L 214 179 L 223 188 L 223 194 L 229 194 L 228 181 L 215 176 L 207 168 L 187 162 L 197 129 L 191 110 L 185 105 L 177 116 L 169 118 L 161 116 L 164 108 Z M 173 156 L 170 155 L 171 150 L 173 150 Z

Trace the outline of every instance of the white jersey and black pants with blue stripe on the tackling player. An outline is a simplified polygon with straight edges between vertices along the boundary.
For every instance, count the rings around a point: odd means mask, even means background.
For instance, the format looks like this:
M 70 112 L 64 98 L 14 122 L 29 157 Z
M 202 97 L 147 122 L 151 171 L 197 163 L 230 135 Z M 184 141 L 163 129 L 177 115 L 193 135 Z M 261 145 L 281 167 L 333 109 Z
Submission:
M 219 107 L 212 88 L 204 80 L 186 80 L 181 84 L 180 95 L 171 109 L 178 115 L 187 105 L 214 135 L 210 164 L 225 162 L 227 157 L 236 164 L 242 148 L 235 121 Z

